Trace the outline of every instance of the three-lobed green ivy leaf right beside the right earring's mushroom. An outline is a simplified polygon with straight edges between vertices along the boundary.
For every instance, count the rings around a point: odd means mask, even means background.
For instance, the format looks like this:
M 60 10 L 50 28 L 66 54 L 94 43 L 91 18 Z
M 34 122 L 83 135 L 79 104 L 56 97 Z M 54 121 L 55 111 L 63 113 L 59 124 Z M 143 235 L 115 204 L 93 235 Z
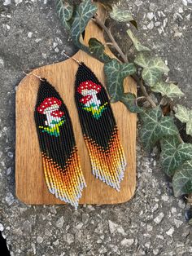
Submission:
M 104 73 L 107 77 L 107 90 L 113 102 L 120 100 L 124 93 L 124 78 L 136 72 L 133 63 L 120 64 L 116 59 L 104 64 Z

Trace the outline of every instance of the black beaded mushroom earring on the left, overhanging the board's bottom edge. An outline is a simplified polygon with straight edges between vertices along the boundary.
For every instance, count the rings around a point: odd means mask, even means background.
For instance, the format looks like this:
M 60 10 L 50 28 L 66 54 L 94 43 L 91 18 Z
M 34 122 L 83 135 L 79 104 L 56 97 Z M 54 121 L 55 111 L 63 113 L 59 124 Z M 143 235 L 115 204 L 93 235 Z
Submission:
M 41 79 L 34 113 L 46 185 L 61 201 L 78 206 L 85 188 L 72 121 L 59 93 Z

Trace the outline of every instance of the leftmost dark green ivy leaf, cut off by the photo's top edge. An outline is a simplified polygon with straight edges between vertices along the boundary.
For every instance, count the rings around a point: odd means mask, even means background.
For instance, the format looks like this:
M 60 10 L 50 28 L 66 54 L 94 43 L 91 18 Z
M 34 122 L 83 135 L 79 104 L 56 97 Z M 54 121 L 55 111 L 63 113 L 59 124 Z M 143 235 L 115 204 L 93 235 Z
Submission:
M 72 18 L 73 6 L 68 2 L 63 2 L 63 0 L 56 1 L 56 7 L 58 11 L 59 18 L 66 29 L 71 28 L 69 20 Z

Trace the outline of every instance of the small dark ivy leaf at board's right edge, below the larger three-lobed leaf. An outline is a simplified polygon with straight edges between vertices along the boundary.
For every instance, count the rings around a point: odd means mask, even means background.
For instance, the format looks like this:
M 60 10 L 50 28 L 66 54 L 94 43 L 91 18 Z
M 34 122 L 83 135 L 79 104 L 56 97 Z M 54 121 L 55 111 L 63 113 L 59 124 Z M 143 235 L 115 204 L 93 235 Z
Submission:
M 133 93 L 124 93 L 120 97 L 120 101 L 129 109 L 131 113 L 141 113 L 142 108 L 139 108 L 136 104 L 136 95 Z

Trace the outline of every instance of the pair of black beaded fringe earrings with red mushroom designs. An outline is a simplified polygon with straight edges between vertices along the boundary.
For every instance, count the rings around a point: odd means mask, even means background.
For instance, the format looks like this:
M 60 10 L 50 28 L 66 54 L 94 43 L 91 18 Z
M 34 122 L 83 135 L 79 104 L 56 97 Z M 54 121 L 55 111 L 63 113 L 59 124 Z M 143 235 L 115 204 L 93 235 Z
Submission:
M 76 60 L 75 100 L 97 179 L 120 191 L 126 160 L 116 120 L 104 86 L 94 73 Z M 68 108 L 46 79 L 41 79 L 35 107 L 37 135 L 46 185 L 61 201 L 78 206 L 86 187 Z

